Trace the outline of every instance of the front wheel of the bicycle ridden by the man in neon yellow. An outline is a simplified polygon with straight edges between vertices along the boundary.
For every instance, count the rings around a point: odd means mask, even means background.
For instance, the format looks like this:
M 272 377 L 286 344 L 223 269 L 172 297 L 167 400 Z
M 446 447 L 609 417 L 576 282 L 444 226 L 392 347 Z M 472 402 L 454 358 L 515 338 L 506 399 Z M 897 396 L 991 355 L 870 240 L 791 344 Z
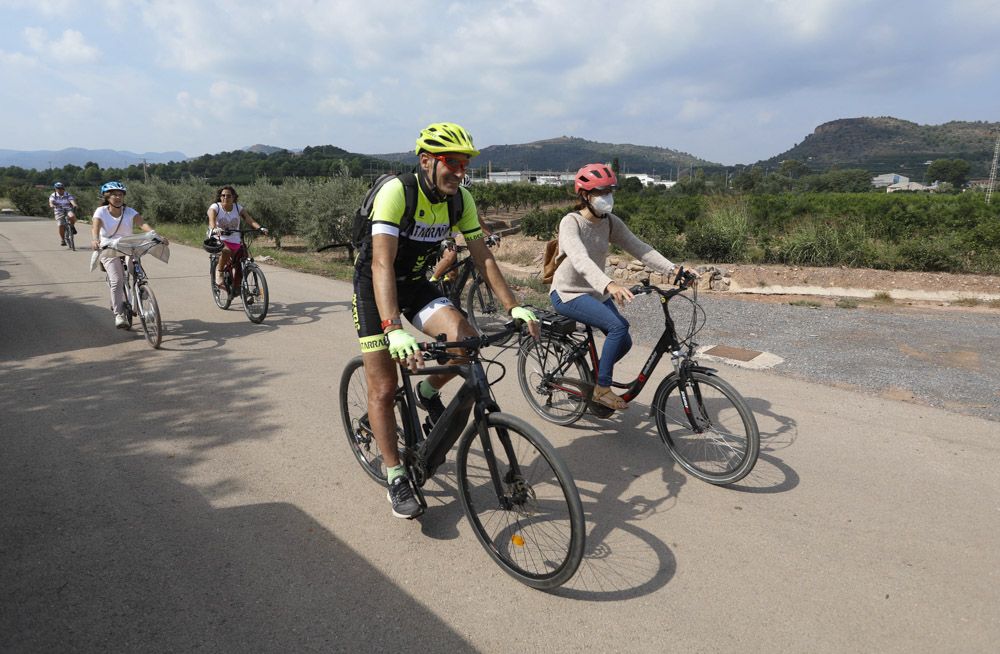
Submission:
M 456 467 L 465 515 L 507 574 L 548 590 L 576 573 L 586 538 L 580 493 L 538 430 L 491 413 L 485 435 L 475 423 L 466 429 Z

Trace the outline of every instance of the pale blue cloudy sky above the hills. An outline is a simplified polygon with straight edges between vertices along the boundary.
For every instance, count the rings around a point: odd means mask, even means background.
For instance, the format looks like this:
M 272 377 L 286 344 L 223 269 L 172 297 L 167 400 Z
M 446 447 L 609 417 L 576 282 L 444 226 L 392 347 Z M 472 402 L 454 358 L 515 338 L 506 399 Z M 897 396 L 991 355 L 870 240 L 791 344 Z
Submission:
M 725 164 L 837 118 L 1000 120 L 1000 2 L 0 0 L 0 148 L 555 136 Z

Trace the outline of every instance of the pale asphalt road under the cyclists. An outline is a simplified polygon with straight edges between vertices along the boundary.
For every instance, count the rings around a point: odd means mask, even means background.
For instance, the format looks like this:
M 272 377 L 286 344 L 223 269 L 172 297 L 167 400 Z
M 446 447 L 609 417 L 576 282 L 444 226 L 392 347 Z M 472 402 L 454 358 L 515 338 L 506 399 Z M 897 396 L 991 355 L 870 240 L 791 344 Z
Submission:
M 114 329 L 89 253 L 54 235 L 0 222 L 0 651 L 1000 642 L 996 422 L 726 367 L 763 438 L 731 488 L 669 462 L 651 388 L 612 420 L 540 424 L 590 529 L 580 571 L 546 594 L 488 558 L 450 467 L 412 522 L 358 469 L 336 401 L 357 351 L 349 285 L 265 266 L 272 311 L 252 325 L 212 303 L 207 255 L 174 246 L 147 263 L 153 351 Z M 538 424 L 500 360 L 500 403 Z

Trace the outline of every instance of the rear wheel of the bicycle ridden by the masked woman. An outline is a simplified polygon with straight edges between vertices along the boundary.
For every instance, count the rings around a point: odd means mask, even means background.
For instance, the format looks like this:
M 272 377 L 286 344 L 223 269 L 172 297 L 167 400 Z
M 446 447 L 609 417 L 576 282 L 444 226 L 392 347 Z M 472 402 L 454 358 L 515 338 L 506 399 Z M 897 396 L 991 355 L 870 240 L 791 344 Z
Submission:
M 545 420 L 557 425 L 571 425 L 587 412 L 594 389 L 590 368 L 577 357 L 566 374 L 546 381 L 562 353 L 573 343 L 565 338 L 543 333 L 536 344 L 526 339 L 517 353 L 517 383 L 528 406 Z

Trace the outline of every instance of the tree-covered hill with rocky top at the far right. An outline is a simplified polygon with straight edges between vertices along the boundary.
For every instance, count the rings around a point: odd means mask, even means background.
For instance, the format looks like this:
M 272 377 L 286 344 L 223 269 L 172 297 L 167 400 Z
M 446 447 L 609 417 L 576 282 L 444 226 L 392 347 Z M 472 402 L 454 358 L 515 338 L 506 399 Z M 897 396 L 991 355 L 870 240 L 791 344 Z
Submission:
M 985 177 L 997 128 L 1000 123 L 983 121 L 918 125 L 889 116 L 843 118 L 823 123 L 792 149 L 761 163 L 777 166 L 794 159 L 817 171 L 863 168 L 920 179 L 927 161 L 964 159 L 972 166 L 971 177 Z

